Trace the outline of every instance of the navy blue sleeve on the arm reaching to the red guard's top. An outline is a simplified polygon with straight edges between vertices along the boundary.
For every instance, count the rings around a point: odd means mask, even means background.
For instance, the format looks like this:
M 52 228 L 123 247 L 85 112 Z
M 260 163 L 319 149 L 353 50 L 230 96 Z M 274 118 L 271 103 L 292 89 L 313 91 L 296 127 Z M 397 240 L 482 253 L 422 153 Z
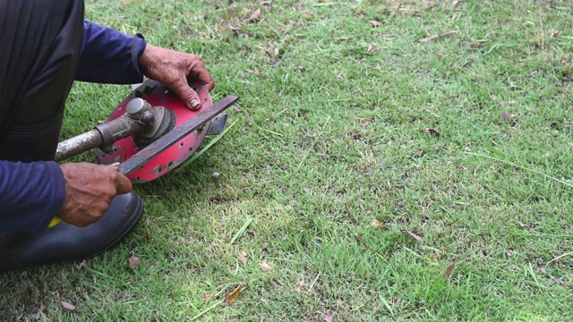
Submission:
M 139 60 L 145 49 L 141 34 L 125 35 L 90 21 L 83 22 L 83 42 L 76 80 L 133 84 L 143 80 Z

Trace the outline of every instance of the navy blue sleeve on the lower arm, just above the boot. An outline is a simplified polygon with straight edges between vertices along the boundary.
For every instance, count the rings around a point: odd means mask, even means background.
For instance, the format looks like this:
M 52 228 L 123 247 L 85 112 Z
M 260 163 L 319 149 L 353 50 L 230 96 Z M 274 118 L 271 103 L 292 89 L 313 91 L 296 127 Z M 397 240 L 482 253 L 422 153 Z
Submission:
M 0 232 L 46 229 L 64 201 L 64 174 L 56 162 L 0 161 Z

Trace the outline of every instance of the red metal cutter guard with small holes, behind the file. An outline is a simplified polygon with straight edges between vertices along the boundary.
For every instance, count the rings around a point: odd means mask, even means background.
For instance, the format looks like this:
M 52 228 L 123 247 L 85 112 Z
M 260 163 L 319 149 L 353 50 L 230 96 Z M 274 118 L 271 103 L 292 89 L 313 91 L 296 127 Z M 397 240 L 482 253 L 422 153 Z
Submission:
M 213 103 L 209 91 L 201 86 L 199 83 L 192 84 L 199 98 L 201 99 L 201 109 L 208 108 Z M 141 87 L 141 98 L 150 103 L 151 106 L 163 106 L 172 110 L 175 113 L 175 127 L 181 125 L 185 121 L 191 119 L 196 114 L 201 112 L 201 109 L 191 111 L 184 102 L 173 91 L 167 89 L 163 84 L 156 80 L 146 80 Z M 125 113 L 125 106 L 134 97 L 132 93 L 115 107 L 114 112 L 109 116 L 107 121 L 114 120 Z M 150 182 L 157 179 L 163 174 L 167 174 L 169 170 L 181 164 L 199 148 L 205 133 L 209 128 L 209 123 L 205 125 L 202 131 L 194 131 L 184 137 L 184 139 L 177 141 L 172 147 L 167 148 L 161 152 L 157 157 L 152 158 L 148 163 L 142 165 L 139 170 L 128 174 L 127 177 L 134 183 Z M 118 140 L 113 144 L 113 153 L 105 154 L 103 151 L 98 151 L 98 160 L 102 165 L 110 165 L 114 162 L 124 162 L 128 158 L 135 155 L 143 147 L 137 147 L 133 142 L 132 137 Z

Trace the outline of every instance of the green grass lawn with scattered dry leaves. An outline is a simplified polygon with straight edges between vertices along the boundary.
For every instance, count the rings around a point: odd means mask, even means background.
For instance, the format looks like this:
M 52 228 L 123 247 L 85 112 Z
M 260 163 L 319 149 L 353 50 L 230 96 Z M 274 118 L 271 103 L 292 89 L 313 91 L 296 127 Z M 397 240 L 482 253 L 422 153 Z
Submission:
M 569 0 L 86 5 L 201 55 L 237 123 L 114 250 L 0 275 L 0 320 L 573 319 Z M 76 83 L 63 137 L 128 92 Z

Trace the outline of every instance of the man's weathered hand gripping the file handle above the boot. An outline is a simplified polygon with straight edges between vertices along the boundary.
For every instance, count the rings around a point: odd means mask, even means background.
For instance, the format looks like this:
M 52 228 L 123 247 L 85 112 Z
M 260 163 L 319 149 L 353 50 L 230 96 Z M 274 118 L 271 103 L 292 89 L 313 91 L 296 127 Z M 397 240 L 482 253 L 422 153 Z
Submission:
M 65 179 L 64 206 L 57 213 L 70 225 L 84 227 L 97 222 L 115 195 L 132 191 L 132 182 L 117 172 L 117 165 L 89 163 L 60 165 Z

